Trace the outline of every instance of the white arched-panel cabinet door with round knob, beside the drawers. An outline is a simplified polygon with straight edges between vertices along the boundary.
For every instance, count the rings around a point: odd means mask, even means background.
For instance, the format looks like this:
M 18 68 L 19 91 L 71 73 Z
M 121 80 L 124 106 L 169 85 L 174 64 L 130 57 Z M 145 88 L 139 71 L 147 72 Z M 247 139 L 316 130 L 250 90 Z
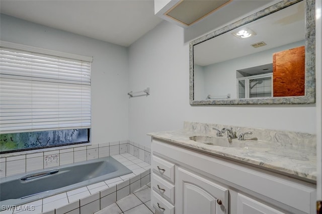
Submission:
M 195 173 L 176 169 L 176 214 L 228 213 L 228 189 Z

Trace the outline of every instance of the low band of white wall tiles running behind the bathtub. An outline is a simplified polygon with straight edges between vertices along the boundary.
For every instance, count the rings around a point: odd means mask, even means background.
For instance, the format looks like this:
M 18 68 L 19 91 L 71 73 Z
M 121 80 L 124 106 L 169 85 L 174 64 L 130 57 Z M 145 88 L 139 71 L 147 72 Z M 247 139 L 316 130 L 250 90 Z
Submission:
M 0 155 L 0 177 L 101 157 L 130 153 L 150 164 L 151 150 L 132 141 L 116 141 L 84 146 L 81 144 Z

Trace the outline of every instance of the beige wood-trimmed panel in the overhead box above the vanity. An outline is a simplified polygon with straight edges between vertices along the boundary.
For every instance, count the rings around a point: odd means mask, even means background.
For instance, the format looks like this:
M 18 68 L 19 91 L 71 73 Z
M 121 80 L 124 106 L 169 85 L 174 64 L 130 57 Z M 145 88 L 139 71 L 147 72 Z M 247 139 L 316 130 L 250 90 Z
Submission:
M 165 15 L 184 26 L 191 26 L 232 0 L 181 0 Z

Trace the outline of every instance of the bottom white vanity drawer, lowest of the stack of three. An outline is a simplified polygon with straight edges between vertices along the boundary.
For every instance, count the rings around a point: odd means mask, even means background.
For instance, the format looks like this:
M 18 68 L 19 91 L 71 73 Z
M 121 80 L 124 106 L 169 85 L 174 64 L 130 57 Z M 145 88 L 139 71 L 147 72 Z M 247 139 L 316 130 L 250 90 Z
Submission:
M 169 203 L 165 198 L 152 190 L 151 205 L 155 208 L 155 213 L 174 214 L 175 206 Z

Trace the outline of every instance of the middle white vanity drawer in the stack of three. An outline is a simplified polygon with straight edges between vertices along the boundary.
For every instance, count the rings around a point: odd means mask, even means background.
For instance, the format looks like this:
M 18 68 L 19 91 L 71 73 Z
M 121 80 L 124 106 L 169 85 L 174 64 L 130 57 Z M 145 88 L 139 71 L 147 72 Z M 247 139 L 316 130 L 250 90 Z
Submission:
M 175 203 L 175 185 L 160 178 L 155 173 L 151 177 L 151 187 L 159 195 L 166 198 L 172 204 Z

